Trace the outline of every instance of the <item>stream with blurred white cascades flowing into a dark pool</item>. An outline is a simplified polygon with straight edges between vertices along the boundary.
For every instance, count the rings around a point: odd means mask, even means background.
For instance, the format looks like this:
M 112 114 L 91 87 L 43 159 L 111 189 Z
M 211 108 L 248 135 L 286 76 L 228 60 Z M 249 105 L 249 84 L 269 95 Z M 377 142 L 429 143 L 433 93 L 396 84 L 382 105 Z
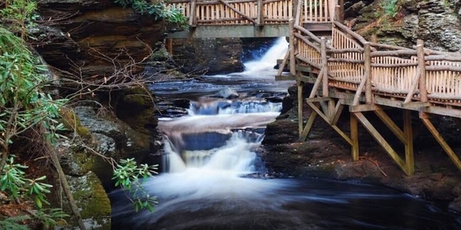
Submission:
M 266 125 L 293 82 L 276 82 L 273 66 L 287 48 L 279 38 L 242 73 L 152 86 L 156 95 L 191 100 L 187 114 L 160 118 L 162 173 L 144 188 L 155 211 L 134 212 L 110 194 L 113 229 L 461 229 L 446 205 L 391 189 L 317 178 L 264 179 L 256 154 Z M 223 88 L 237 99 L 213 95 Z M 250 176 L 248 176 L 250 175 Z

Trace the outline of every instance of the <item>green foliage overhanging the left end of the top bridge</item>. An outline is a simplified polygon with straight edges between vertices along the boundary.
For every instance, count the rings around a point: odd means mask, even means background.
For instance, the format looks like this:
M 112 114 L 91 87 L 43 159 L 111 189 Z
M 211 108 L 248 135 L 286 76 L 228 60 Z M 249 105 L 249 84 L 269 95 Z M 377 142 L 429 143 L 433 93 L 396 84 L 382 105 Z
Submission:
M 142 15 L 151 15 L 155 20 L 165 19 L 170 24 L 180 27 L 187 25 L 186 17 L 179 9 L 166 7 L 165 3 L 152 3 L 146 0 L 114 0 L 114 2 L 122 7 L 130 7 Z

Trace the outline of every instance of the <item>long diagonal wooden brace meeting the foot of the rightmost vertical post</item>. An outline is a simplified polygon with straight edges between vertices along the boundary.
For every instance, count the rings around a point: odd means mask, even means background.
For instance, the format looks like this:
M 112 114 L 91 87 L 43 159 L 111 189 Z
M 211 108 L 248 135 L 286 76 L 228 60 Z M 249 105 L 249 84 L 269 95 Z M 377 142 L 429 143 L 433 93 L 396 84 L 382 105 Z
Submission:
M 405 174 L 410 175 L 406 163 L 402 158 L 394 151 L 394 149 L 389 145 L 389 143 L 384 139 L 384 137 L 376 130 L 373 125 L 365 118 L 361 112 L 353 113 L 354 116 L 360 121 L 360 123 L 365 127 L 366 130 L 371 134 L 373 139 L 383 147 L 384 150 L 389 154 L 389 156 L 394 160 L 397 166 L 400 167 Z

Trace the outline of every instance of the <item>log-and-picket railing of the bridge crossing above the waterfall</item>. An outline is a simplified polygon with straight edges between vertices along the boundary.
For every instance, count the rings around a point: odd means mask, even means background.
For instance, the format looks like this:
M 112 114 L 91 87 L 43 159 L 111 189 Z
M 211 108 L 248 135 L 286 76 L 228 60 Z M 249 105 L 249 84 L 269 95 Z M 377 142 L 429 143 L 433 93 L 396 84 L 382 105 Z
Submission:
M 299 1 L 299 4 L 298 4 Z M 334 0 L 169 0 L 167 7 L 182 11 L 189 25 L 287 24 L 301 6 L 301 22 L 330 22 Z

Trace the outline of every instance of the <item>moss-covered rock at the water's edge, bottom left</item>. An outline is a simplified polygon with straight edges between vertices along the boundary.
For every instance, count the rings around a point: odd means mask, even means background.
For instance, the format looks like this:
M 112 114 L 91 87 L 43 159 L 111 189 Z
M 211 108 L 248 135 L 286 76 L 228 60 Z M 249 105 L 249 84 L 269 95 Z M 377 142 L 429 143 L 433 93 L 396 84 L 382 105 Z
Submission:
M 67 177 L 69 186 L 87 229 L 111 229 L 111 203 L 96 174 L 88 172 L 79 177 Z M 69 208 L 65 210 L 70 213 Z M 65 229 L 78 229 L 74 218 L 68 218 Z

